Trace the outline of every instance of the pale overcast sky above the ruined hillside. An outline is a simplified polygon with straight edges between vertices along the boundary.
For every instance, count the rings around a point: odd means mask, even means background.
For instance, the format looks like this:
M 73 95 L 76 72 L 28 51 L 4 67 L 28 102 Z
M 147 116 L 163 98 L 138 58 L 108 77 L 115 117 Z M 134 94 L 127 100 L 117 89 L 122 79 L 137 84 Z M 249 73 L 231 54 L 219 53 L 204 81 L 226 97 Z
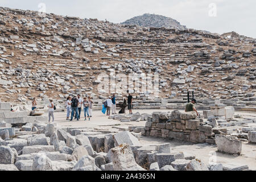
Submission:
M 0 0 L 0 6 L 113 23 L 144 13 L 159 14 L 196 30 L 218 34 L 235 31 L 256 38 L 255 0 Z

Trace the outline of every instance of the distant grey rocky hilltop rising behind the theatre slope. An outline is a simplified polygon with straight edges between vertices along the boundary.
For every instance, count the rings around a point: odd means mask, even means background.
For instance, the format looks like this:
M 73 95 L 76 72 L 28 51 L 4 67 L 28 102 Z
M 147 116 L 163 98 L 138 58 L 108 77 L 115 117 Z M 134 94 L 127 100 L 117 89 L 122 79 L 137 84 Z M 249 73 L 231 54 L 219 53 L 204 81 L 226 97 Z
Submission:
M 176 28 L 177 30 L 186 29 L 185 26 L 182 26 L 177 20 L 155 14 L 143 14 L 141 16 L 135 16 L 121 24 L 137 25 L 141 27 L 164 27 L 164 28 Z

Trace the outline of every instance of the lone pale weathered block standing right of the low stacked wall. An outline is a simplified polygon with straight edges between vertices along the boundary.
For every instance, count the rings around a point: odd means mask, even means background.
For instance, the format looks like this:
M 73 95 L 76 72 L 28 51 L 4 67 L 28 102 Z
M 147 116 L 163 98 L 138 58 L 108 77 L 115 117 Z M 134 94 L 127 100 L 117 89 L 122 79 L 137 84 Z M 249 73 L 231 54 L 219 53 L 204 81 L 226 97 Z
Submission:
M 238 154 L 242 152 L 242 142 L 232 137 L 224 135 L 215 135 L 218 151 L 226 152 L 229 154 Z

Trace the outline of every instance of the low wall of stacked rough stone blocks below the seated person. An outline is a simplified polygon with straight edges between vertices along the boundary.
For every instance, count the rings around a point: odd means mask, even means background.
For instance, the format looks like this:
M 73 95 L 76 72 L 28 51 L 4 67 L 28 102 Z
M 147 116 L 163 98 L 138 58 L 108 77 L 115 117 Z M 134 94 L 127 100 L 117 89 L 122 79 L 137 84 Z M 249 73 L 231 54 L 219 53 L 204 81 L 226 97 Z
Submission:
M 152 117 L 148 117 L 142 135 L 215 144 L 212 126 L 203 125 L 203 119 L 197 119 L 195 111 L 153 113 Z

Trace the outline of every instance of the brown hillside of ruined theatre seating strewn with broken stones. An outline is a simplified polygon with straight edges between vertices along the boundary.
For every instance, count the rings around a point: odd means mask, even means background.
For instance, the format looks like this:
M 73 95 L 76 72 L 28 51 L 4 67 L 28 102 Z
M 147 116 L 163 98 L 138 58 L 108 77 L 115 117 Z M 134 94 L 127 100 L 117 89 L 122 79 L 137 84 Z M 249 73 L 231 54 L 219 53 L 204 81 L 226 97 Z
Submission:
M 255 101 L 255 39 L 0 7 L 1 101 L 95 98 L 102 73 L 159 73 L 159 96 Z M 122 80 L 118 80 L 122 81 Z M 135 80 L 143 84 L 140 80 Z M 118 84 L 118 83 L 116 83 Z M 135 88 L 133 91 L 139 91 Z M 121 97 L 121 94 L 119 94 Z M 152 98 L 137 92 L 138 99 Z

